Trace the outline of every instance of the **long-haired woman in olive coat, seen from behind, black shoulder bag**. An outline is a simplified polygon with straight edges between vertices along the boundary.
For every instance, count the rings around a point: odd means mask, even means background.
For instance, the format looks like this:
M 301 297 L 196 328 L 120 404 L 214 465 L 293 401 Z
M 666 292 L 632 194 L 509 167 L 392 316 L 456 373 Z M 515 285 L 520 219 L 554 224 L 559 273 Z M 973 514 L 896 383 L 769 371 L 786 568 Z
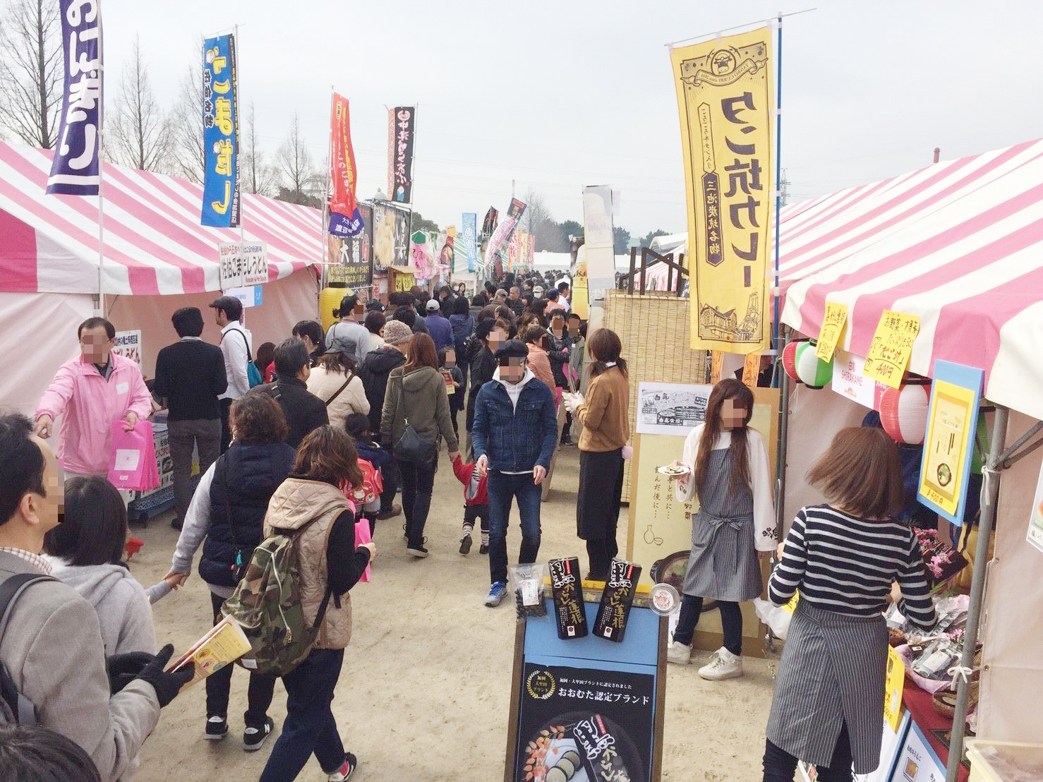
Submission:
M 434 341 L 426 334 L 413 336 L 405 365 L 392 369 L 388 377 L 381 417 L 382 442 L 393 448 L 407 425 L 412 425 L 420 438 L 436 445 L 435 457 L 431 461 L 395 460 L 402 475 L 403 509 L 406 511 L 406 551 L 414 557 L 423 558 L 428 556 L 423 527 L 428 522 L 435 471 L 438 469 L 439 436 L 445 439 L 450 459 L 455 459 L 460 450 L 450 416 L 445 381 L 438 371 L 438 352 Z

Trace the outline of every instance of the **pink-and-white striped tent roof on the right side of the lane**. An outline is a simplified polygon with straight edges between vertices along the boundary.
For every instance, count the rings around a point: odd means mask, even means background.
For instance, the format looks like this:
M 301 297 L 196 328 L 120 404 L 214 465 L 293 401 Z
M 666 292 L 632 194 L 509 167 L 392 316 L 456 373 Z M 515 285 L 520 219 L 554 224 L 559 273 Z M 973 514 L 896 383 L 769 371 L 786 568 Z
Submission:
M 1043 140 L 783 209 L 782 321 L 866 356 L 883 310 L 920 316 L 909 370 L 986 370 L 986 396 L 1043 419 Z

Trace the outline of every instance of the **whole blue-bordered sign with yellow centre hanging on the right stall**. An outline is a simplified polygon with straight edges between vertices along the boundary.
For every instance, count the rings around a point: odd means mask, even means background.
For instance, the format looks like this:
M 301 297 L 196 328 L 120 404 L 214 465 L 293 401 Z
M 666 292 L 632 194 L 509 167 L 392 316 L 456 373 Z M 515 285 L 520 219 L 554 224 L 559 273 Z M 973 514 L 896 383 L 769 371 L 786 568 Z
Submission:
M 917 493 L 923 505 L 956 527 L 964 522 L 984 378 L 985 372 L 974 367 L 935 363 Z

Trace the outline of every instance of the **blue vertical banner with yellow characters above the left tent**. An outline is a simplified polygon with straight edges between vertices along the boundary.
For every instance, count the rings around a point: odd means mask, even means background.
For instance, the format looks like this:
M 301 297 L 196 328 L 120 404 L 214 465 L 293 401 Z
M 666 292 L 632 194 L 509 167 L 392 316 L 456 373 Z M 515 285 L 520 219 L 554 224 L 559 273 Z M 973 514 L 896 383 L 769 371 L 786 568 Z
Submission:
M 205 170 L 200 223 L 239 225 L 239 84 L 235 35 L 202 45 L 202 124 Z

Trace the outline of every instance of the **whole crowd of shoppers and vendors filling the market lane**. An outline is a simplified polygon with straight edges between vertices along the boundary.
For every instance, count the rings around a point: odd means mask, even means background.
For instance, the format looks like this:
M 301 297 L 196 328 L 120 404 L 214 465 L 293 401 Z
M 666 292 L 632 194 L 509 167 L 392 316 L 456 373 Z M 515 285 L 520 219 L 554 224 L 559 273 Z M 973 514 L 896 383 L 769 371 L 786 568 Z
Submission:
M 9 749 L 0 750 L 0 761 L 35 757 L 78 763 L 77 778 L 129 777 L 161 709 L 192 677 L 191 665 L 165 670 L 172 647 L 160 647 L 149 603 L 186 582 L 201 547 L 207 620 L 216 625 L 254 547 L 278 534 L 296 541 L 301 606 L 317 640 L 282 677 L 287 718 L 262 780 L 296 778 L 313 754 L 332 782 L 347 779 L 358 759 L 342 744 L 331 703 L 351 635 L 349 590 L 377 557 L 374 543 L 356 543 L 356 521 L 372 530 L 403 516 L 405 552 L 428 557 L 443 442 L 463 490 L 458 553 L 470 554 L 477 522 L 479 553 L 488 556 L 486 606 L 507 593 L 515 503 L 517 562 L 539 556 L 541 502 L 555 454 L 572 445 L 574 430 L 577 534 L 586 544 L 586 578 L 604 581 L 618 554 L 629 456 L 620 337 L 607 328 L 587 335 L 572 312 L 567 279 L 508 275 L 501 283 L 469 297 L 460 286 L 397 292 L 387 304 L 346 292 L 328 331 L 304 320 L 277 345 L 256 349 L 240 302 L 222 296 L 211 304 L 219 345 L 202 341 L 198 309 L 173 314 L 178 340 L 160 351 L 151 388 L 137 364 L 113 352 L 112 323 L 80 324 L 80 356 L 58 369 L 34 419 L 0 416 L 0 685 L 19 693 L 7 714 L 0 699 L 0 724 L 22 724 L 4 729 L 0 742 Z M 130 430 L 161 408 L 179 537 L 170 571 L 146 589 L 124 558 L 125 498 L 106 480 L 108 438 L 117 422 Z M 742 676 L 739 604 L 761 593 L 758 559 L 775 554 L 769 594 L 784 603 L 799 589 L 801 600 L 768 728 L 765 779 L 792 780 L 798 757 L 820 763 L 820 779 L 850 779 L 852 764 L 869 769 L 878 757 L 880 610 L 893 583 L 906 616 L 924 626 L 932 619 L 916 540 L 890 520 L 901 492 L 897 455 L 879 431 L 840 433 L 810 475 L 829 504 L 802 510 L 779 543 L 767 448 L 749 426 L 752 412 L 746 386 L 721 382 L 705 423 L 675 462 L 684 468 L 675 476 L 677 498 L 698 496 L 700 506 L 669 659 L 689 661 L 703 601 L 714 600 L 724 646 L 699 673 Z M 55 455 L 47 440 L 59 419 Z M 854 658 L 844 651 L 850 643 L 860 644 Z M 226 666 L 205 680 L 209 740 L 228 734 L 232 677 Z M 838 681 L 840 697 L 829 685 Z M 274 676 L 248 673 L 245 751 L 275 733 L 268 716 L 275 685 Z M 808 726 L 803 711 L 821 725 Z

